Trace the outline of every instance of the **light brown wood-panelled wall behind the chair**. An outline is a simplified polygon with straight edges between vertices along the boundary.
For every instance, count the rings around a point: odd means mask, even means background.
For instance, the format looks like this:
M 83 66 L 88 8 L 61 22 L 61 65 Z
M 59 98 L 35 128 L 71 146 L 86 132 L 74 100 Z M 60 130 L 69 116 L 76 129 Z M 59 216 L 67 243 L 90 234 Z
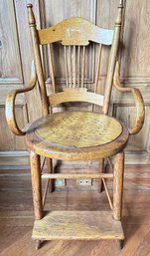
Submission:
M 37 27 L 51 26 L 70 16 L 81 16 L 102 28 L 113 28 L 119 0 L 1 0 L 0 1 L 0 165 L 26 167 L 29 164 L 24 138 L 17 137 L 7 128 L 4 107 L 5 97 L 13 89 L 27 87 L 32 55 L 27 21 L 26 4 L 31 2 Z M 150 163 L 150 2 L 147 0 L 124 1 L 124 26 L 122 29 L 121 82 L 124 86 L 141 90 L 146 105 L 144 128 L 130 138 L 126 148 L 126 162 Z M 97 49 L 91 48 L 86 60 L 86 80 L 92 88 Z M 61 51 L 58 48 L 57 82 L 64 83 L 61 69 Z M 47 86 L 50 87 L 47 52 L 43 50 Z M 102 49 L 98 91 L 104 89 L 108 51 Z M 39 91 L 17 98 L 16 112 L 20 125 L 41 116 Z M 113 90 L 111 112 L 114 117 L 132 125 L 134 102 L 130 95 L 120 95 Z M 91 163 L 89 163 L 91 165 Z

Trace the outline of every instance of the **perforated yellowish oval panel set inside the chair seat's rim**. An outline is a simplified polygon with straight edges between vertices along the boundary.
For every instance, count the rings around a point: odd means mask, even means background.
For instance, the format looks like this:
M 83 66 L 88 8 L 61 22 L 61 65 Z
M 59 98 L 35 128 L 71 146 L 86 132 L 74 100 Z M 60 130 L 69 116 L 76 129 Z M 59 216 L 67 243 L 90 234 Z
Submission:
M 41 141 L 68 148 L 102 145 L 122 133 L 122 126 L 115 119 L 90 112 L 57 113 L 40 120 L 36 127 Z

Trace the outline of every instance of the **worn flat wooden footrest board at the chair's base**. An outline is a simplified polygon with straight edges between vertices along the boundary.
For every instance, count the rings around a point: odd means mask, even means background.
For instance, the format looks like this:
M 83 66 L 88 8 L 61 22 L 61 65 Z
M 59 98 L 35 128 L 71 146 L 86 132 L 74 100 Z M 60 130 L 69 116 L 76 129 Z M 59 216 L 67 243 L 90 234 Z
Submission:
M 33 239 L 97 240 L 124 239 L 120 221 L 111 211 L 51 211 L 36 220 Z

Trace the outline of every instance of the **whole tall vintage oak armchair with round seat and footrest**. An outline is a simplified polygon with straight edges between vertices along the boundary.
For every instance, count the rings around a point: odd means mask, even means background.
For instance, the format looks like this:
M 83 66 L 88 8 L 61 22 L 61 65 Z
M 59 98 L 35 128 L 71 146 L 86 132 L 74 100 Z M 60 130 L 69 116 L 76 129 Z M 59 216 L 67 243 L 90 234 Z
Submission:
M 7 97 L 6 118 L 9 128 L 24 135 L 30 150 L 35 224 L 33 238 L 37 248 L 42 240 L 53 239 L 116 239 L 124 234 L 121 226 L 124 152 L 130 134 L 137 133 L 144 122 L 144 105 L 138 89 L 122 88 L 119 81 L 117 52 L 122 23 L 122 1 L 118 6 L 114 30 L 101 29 L 82 18 L 69 18 L 50 28 L 37 30 L 32 4 L 28 4 L 29 26 L 33 41 L 34 63 L 30 87 L 12 92 Z M 64 47 L 66 84 L 63 92 L 56 93 L 52 44 L 61 42 Z M 99 45 L 94 91 L 88 92 L 84 84 L 85 49 L 90 43 Z M 48 45 L 49 64 L 54 94 L 47 95 L 40 45 Z M 101 46 L 111 46 L 104 96 L 97 94 Z M 70 72 L 69 72 L 70 68 Z M 35 71 L 36 70 L 36 71 Z M 72 72 L 73 71 L 73 72 Z M 18 94 L 32 91 L 39 82 L 43 117 L 20 129 L 15 117 L 15 99 Z M 122 93 L 132 93 L 136 105 L 136 121 L 133 128 L 108 116 L 112 85 Z M 64 111 L 50 113 L 50 108 L 69 102 L 85 102 L 102 108 L 102 114 L 94 112 Z M 109 156 L 114 155 L 114 165 Z M 41 156 L 46 157 L 48 173 L 42 173 Z M 54 173 L 52 159 L 101 160 L 107 158 L 112 173 Z M 42 164 L 44 165 L 44 164 Z M 42 199 L 41 180 L 47 179 Z M 44 212 L 49 180 L 99 179 L 110 204 L 110 211 L 51 211 Z M 113 179 L 113 203 L 105 179 Z

